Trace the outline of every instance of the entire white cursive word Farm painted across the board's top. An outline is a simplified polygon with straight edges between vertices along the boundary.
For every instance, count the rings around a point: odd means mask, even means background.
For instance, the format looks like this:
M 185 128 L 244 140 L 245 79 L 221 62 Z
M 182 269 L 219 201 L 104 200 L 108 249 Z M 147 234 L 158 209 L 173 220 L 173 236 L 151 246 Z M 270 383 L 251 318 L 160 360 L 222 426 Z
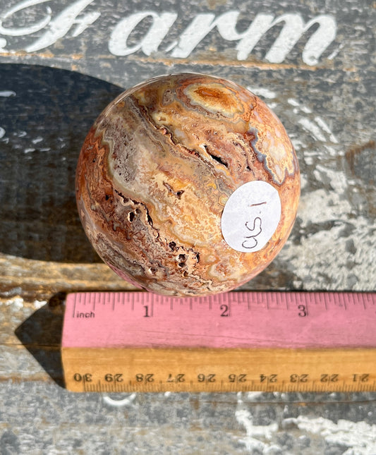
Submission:
M 0 35 L 19 37 L 40 32 L 40 37 L 25 46 L 27 52 L 39 51 L 53 45 L 66 36 L 70 30 L 71 37 L 78 37 L 101 15 L 99 11 L 83 13 L 93 1 L 74 0 L 71 5 L 63 8 L 56 16 L 53 16 L 49 6 L 44 6 L 45 11 L 40 16 L 42 19 L 35 23 L 23 24 L 19 28 L 6 27 L 7 20 L 11 19 L 13 23 L 15 22 L 15 18 L 12 16 L 15 16 L 19 11 L 47 2 L 53 3 L 53 0 L 22 0 L 0 14 Z M 121 19 L 115 25 L 109 37 L 109 52 L 115 56 L 127 56 L 142 51 L 143 54 L 150 56 L 154 52 L 163 51 L 165 54 L 171 52 L 170 55 L 174 59 L 186 59 L 200 42 L 212 30 L 216 29 L 223 40 L 236 42 L 234 44 L 236 58 L 243 61 L 248 59 L 248 56 L 260 43 L 262 37 L 268 34 L 269 30 L 281 24 L 279 35 L 265 52 L 265 60 L 271 63 L 281 63 L 298 41 L 313 26 L 317 25 L 317 28 L 307 37 L 301 56 L 304 63 L 313 66 L 317 65 L 322 54 L 336 37 L 336 20 L 329 14 L 320 14 L 305 22 L 299 13 L 285 13 L 277 17 L 272 13 L 257 13 L 248 28 L 238 31 L 240 14 L 236 10 L 226 11 L 219 16 L 214 13 L 199 13 L 188 23 L 177 40 L 169 40 L 169 42 L 164 43 L 166 37 L 168 39 L 169 32 L 172 32 L 178 14 L 174 11 L 135 12 Z M 35 14 L 30 14 L 30 17 L 35 17 Z M 11 25 L 11 21 L 8 25 Z M 138 29 L 140 31 L 145 30 L 144 35 L 138 39 L 138 42 L 131 44 L 130 37 L 138 27 L 140 27 Z M 163 43 L 164 46 L 162 47 Z M 7 45 L 7 40 L 0 37 L 0 51 L 7 52 L 5 49 Z M 333 56 L 334 53 L 330 55 Z

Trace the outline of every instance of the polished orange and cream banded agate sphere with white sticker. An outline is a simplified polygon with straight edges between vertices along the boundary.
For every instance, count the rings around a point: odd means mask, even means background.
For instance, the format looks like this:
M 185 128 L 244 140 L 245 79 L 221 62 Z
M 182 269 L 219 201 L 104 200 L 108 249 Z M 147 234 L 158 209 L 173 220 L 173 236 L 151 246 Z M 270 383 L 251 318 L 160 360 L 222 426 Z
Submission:
M 87 237 L 120 277 L 170 296 L 229 291 L 265 269 L 298 207 L 277 116 L 208 75 L 153 78 L 104 109 L 76 174 Z

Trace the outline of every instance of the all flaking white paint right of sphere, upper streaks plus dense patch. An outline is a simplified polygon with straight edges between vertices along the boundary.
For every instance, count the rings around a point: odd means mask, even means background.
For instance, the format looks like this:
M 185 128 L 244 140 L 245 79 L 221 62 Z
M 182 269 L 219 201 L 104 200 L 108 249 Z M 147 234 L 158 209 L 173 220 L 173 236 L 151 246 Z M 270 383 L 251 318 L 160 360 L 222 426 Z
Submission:
M 279 258 L 298 275 L 295 282 L 303 282 L 307 290 L 370 291 L 376 274 L 376 237 L 370 221 L 358 215 L 367 207 L 362 206 L 361 199 L 354 207 L 349 197 L 359 191 L 356 179 L 349 179 L 344 169 L 338 167 L 343 147 L 319 112 L 314 113 L 292 97 L 287 102 L 293 108 L 291 121 L 301 126 L 301 135 L 298 132 L 291 135 L 298 159 L 313 166 L 311 176 L 323 188 L 306 193 L 308 177 L 301 175 L 298 218 L 304 231 L 308 226 L 312 228 L 301 237 L 300 245 L 288 241 Z M 307 138 L 312 138 L 311 142 Z M 315 231 L 316 224 L 326 226 Z M 346 229 L 356 235 L 351 233 L 346 238 Z M 343 240 L 337 241 L 339 238 Z

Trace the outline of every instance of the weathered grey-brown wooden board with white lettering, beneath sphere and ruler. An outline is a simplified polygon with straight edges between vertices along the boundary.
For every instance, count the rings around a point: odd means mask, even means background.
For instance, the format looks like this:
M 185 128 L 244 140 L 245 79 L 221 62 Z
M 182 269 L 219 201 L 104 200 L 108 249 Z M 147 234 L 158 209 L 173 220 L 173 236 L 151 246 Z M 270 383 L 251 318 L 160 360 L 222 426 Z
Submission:
M 244 289 L 375 291 L 375 19 L 365 0 L 0 0 L 1 454 L 376 453 L 373 394 L 78 397 L 51 380 L 61 293 L 131 289 L 80 227 L 80 145 L 154 75 L 235 80 L 291 135 L 296 225 Z

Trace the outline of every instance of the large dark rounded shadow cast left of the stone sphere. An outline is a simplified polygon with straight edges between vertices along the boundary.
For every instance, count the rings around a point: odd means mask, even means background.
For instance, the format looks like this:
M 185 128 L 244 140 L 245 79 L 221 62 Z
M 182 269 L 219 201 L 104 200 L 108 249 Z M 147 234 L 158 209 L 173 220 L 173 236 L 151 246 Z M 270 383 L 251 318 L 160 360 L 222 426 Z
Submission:
M 121 87 L 44 66 L 0 65 L 0 253 L 99 262 L 75 205 L 92 123 Z

